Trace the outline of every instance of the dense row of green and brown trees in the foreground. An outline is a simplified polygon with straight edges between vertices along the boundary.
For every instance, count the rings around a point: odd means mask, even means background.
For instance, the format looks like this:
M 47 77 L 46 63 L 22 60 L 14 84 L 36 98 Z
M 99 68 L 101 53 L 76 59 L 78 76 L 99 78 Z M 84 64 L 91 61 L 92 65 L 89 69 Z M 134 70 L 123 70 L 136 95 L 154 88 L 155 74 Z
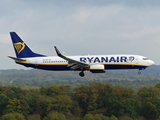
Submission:
M 133 90 L 109 83 L 22 89 L 0 86 L 1 120 L 160 120 L 160 83 Z

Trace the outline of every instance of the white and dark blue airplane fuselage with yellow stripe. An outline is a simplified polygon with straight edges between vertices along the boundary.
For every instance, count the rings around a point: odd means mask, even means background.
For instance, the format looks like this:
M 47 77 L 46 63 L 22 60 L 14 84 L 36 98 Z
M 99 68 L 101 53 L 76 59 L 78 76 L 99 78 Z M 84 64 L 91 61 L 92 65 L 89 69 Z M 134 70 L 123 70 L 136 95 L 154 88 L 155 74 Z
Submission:
M 105 69 L 145 69 L 154 64 L 144 56 L 139 55 L 87 55 L 67 56 L 78 62 L 104 65 Z M 23 59 L 23 58 L 22 58 Z M 26 67 L 33 67 L 46 70 L 72 70 L 68 61 L 58 56 L 24 58 L 25 62 L 16 61 Z M 89 70 L 90 68 L 86 68 Z

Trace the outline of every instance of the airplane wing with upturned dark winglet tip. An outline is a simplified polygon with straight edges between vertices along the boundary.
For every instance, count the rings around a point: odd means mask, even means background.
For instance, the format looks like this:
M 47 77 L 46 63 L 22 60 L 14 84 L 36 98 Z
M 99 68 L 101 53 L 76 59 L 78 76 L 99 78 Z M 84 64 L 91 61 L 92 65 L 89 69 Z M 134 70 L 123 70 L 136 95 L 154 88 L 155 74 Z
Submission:
M 68 63 L 69 63 L 68 67 L 69 67 L 69 66 L 72 66 L 71 69 L 74 69 L 74 70 L 76 70 L 76 69 L 88 70 L 88 69 L 90 68 L 90 65 L 89 65 L 89 64 L 82 63 L 82 62 L 80 62 L 80 61 L 77 61 L 77 60 L 68 58 L 68 57 L 62 55 L 61 52 L 57 49 L 56 46 L 54 46 L 54 48 L 55 48 L 56 53 L 57 53 L 57 55 L 58 55 L 59 57 L 61 57 L 61 58 L 63 58 L 64 60 L 67 60 L 67 61 L 68 61 Z

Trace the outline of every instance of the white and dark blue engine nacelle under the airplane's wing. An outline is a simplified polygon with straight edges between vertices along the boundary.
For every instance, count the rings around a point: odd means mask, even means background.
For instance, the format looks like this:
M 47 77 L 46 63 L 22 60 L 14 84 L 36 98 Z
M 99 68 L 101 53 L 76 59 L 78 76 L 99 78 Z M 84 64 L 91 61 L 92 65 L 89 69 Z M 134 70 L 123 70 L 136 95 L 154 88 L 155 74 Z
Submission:
M 92 73 L 105 73 L 104 65 L 93 64 L 90 66 L 90 72 Z

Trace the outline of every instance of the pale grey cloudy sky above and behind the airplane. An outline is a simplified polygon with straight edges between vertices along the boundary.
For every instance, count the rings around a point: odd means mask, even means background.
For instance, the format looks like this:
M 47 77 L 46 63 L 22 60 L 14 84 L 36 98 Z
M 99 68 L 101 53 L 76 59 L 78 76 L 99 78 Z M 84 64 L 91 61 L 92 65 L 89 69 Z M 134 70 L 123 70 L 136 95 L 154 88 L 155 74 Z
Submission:
M 9 32 L 36 53 L 138 54 L 160 64 L 159 0 L 1 0 L 0 69 L 23 69 Z

